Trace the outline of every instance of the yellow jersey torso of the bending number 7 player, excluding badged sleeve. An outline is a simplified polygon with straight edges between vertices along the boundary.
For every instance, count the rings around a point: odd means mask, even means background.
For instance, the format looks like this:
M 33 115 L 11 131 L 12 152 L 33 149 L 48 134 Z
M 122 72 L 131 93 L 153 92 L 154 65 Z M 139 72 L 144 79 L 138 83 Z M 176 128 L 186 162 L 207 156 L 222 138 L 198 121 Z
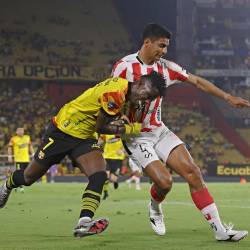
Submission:
M 105 109 L 105 105 L 108 108 L 112 93 L 121 92 L 122 97 L 119 96 L 121 100 L 118 98 L 118 101 L 125 102 L 124 89 L 127 88 L 127 81 L 121 79 L 122 82 L 117 84 L 115 80 L 108 80 L 95 85 L 78 98 L 65 104 L 55 117 L 57 127 L 77 138 L 95 138 L 97 116 L 101 108 Z M 114 98 L 116 98 L 115 95 Z

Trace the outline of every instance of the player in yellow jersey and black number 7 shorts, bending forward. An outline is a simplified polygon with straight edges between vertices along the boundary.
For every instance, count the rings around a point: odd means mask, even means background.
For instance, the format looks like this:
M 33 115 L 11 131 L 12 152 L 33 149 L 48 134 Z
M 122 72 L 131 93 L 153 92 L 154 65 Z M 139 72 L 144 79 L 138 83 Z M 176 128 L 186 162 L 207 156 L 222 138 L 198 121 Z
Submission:
M 34 159 L 23 171 L 16 170 L 0 187 L 0 208 L 4 207 L 13 188 L 30 186 L 66 155 L 77 163 L 89 183 L 82 196 L 80 218 L 74 236 L 84 237 L 103 232 L 107 219 L 94 220 L 107 179 L 106 163 L 95 139 L 100 134 L 135 135 L 140 123 L 125 124 L 119 117 L 126 105 L 154 100 L 165 93 L 164 79 L 156 72 L 133 83 L 121 78 L 107 79 L 65 104 L 53 117 Z M 117 120 L 118 119 L 118 120 Z

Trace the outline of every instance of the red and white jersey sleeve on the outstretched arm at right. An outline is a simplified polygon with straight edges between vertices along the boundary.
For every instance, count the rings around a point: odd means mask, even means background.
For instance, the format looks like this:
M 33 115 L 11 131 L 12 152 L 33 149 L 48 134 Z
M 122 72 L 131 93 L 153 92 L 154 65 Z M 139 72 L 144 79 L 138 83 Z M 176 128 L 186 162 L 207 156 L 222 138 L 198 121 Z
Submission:
M 185 82 L 188 78 L 188 73 L 185 69 L 183 69 L 180 65 L 168 61 L 165 64 L 165 69 L 169 75 L 169 82 L 168 82 L 168 86 L 172 85 L 176 82 Z

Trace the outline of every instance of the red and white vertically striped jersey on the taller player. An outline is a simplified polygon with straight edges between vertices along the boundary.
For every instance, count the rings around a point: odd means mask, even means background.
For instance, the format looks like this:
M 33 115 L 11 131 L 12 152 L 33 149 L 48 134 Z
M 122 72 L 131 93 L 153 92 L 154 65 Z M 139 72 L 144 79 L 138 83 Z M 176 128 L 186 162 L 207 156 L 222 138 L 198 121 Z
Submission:
M 129 82 L 134 82 L 140 76 L 150 74 L 152 71 L 156 71 L 164 77 L 167 87 L 188 78 L 186 70 L 178 64 L 161 58 L 154 64 L 147 65 L 140 60 L 138 52 L 125 56 L 118 61 L 113 66 L 112 76 L 122 77 Z M 154 129 L 163 125 L 161 121 L 161 103 L 161 97 L 146 103 L 141 117 L 142 132 L 153 132 Z

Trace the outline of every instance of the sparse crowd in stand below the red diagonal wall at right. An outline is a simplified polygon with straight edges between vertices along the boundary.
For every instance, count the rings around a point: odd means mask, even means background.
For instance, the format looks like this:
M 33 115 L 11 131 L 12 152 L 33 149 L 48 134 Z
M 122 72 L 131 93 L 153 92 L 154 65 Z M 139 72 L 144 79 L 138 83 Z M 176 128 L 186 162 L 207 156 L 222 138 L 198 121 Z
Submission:
M 248 161 L 222 136 L 209 117 L 199 112 L 199 106 L 195 103 L 193 110 L 169 103 L 165 107 L 167 109 L 162 114 L 163 121 L 187 144 L 195 161 L 204 172 L 208 163 L 212 161 L 220 163 Z

